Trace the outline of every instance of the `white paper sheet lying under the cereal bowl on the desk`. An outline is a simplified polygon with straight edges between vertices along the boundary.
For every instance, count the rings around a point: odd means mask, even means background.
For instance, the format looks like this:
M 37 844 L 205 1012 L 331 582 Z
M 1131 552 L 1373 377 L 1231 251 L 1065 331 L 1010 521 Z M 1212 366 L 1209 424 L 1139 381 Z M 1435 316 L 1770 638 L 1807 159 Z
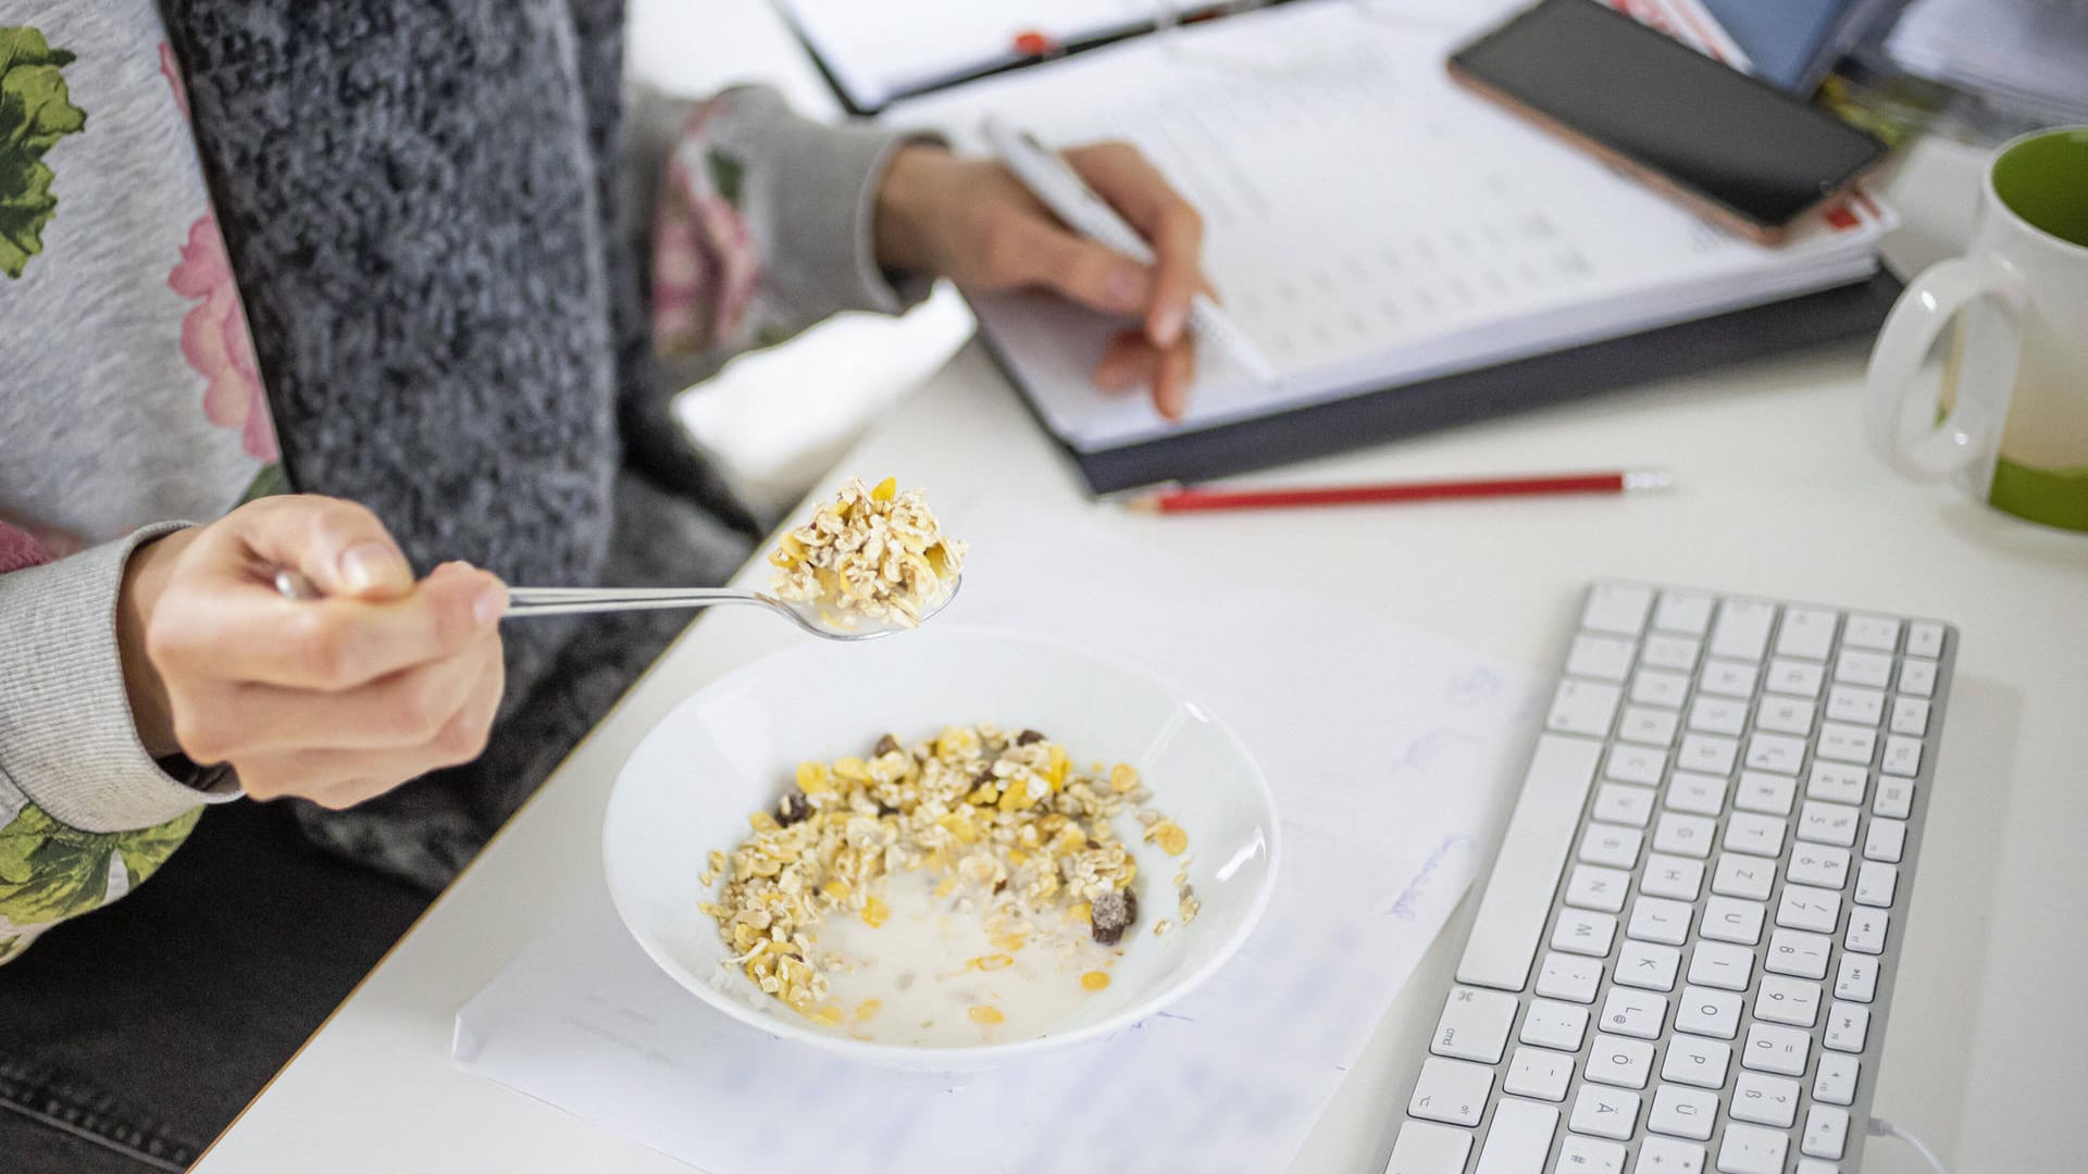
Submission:
M 1253 938 L 1167 1013 L 967 1078 L 814 1055 L 710 1011 L 654 969 L 603 892 L 457 1015 L 457 1061 L 714 1174 L 1282 1170 L 1441 930 L 1505 815 L 1533 673 L 1368 612 L 1230 587 L 1092 524 L 1009 501 L 952 623 L 1092 641 L 1184 681 L 1255 752 L 1284 859 Z M 808 1111 L 808 1105 L 818 1105 Z

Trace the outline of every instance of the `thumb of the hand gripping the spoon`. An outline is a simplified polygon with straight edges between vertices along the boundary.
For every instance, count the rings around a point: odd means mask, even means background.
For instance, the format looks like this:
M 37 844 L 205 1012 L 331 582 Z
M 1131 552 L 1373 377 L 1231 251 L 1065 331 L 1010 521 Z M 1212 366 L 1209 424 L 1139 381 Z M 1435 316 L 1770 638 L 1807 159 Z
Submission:
M 269 566 L 299 570 L 322 595 L 384 602 L 413 589 L 413 568 L 384 522 L 340 497 L 263 497 L 228 516 Z

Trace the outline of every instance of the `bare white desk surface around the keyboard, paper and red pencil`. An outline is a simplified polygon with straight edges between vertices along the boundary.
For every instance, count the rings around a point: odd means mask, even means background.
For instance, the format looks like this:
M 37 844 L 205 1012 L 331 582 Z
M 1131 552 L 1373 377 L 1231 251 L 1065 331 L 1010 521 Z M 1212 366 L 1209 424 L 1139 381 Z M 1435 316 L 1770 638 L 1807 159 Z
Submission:
M 1902 175 L 1902 205 L 1961 215 L 1969 171 L 1942 167 L 1938 175 L 1948 184 Z M 1936 253 L 1921 240 L 1906 249 L 1917 259 Z M 1593 577 L 1961 625 L 1942 785 L 1877 1111 L 1940 1147 L 1959 1174 L 2078 1168 L 2088 1153 L 2088 921 L 2080 913 L 2088 892 L 2088 537 L 1888 474 L 1858 439 L 1862 353 L 1846 345 L 1758 361 L 1263 478 L 1675 468 L 1672 493 L 1629 499 L 1123 516 L 1079 497 L 975 347 L 871 432 L 841 470 L 925 485 L 946 514 L 992 493 L 1088 514 L 1226 574 L 1359 604 L 1545 668 L 1558 664 Z M 1338 570 L 1318 570 L 1330 558 Z M 760 577 L 760 564 L 741 572 L 743 581 Z M 718 673 L 789 639 L 785 625 L 758 614 L 718 612 L 693 625 L 198 1170 L 685 1172 L 457 1072 L 451 1022 L 572 892 L 601 884 L 601 808 L 637 739 Z M 1338 658 L 1340 650 L 1328 650 L 1330 664 Z M 1292 1170 L 1382 1170 L 1395 1118 L 1384 1088 L 1424 1047 L 1472 905 L 1378 1026 Z M 1917 1170 L 1894 1143 L 1873 1143 L 1869 1157 L 1871 1172 Z

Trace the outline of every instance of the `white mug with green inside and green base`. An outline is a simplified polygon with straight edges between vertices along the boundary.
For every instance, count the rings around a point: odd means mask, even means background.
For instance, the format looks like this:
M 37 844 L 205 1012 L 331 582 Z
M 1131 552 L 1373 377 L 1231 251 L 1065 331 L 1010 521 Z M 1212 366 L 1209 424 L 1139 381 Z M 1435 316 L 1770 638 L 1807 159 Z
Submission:
M 1942 391 L 1917 395 L 1933 386 L 1921 368 L 1952 322 Z M 2088 127 L 1994 152 L 1965 257 L 1906 286 L 1867 382 L 1871 447 L 1890 466 L 2088 531 Z

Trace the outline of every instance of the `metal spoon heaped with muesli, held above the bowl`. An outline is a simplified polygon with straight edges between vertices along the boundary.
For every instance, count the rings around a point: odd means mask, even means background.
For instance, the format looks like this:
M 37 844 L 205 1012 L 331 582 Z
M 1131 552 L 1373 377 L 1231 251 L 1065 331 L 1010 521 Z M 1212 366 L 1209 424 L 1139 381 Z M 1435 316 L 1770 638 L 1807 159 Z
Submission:
M 942 533 L 919 489 L 894 478 L 867 489 L 850 478 L 812 520 L 785 531 L 768 554 L 768 591 L 737 587 L 509 587 L 507 618 L 570 616 L 754 604 L 825 639 L 877 639 L 921 627 L 950 606 L 963 583 L 965 543 Z M 278 570 L 290 600 L 319 591 L 296 570 Z

